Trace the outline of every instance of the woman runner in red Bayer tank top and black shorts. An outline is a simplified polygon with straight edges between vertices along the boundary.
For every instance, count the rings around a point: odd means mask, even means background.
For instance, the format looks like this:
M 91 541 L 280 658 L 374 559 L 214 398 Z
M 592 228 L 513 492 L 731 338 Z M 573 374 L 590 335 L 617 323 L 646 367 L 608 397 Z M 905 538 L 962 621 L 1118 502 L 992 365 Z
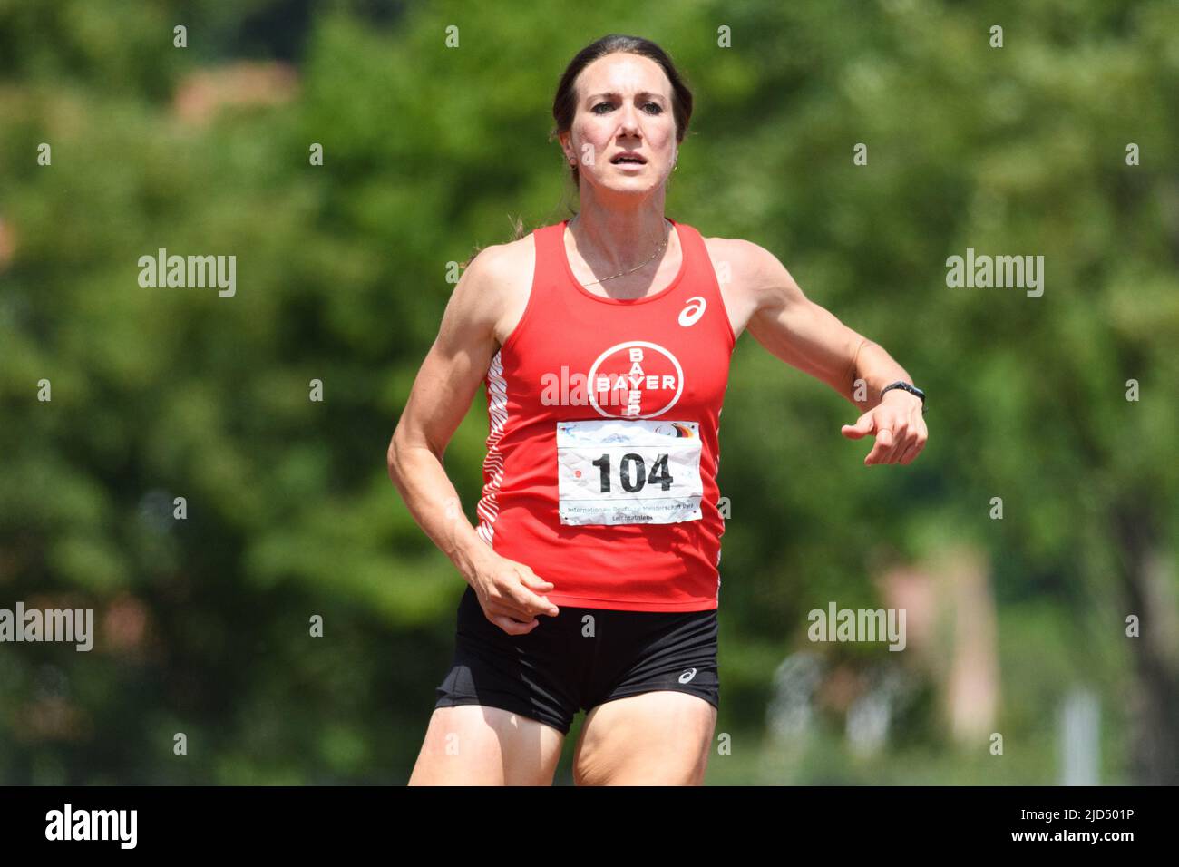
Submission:
M 737 337 L 863 410 L 909 464 L 924 395 L 749 241 L 664 216 L 692 94 L 656 44 L 584 48 L 553 101 L 580 209 L 480 251 L 389 444 L 389 475 L 468 587 L 410 784 L 700 784 L 719 705 L 718 428 Z M 858 388 L 857 388 L 858 383 Z M 477 526 L 443 453 L 480 385 Z M 859 399 L 858 401 L 856 399 Z

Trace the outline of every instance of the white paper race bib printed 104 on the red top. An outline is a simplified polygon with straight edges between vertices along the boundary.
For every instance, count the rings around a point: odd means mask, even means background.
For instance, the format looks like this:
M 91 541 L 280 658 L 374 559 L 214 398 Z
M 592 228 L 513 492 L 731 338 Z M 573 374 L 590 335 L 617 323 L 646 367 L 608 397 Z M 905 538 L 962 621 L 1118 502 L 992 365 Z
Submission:
M 698 421 L 559 421 L 556 468 L 561 524 L 676 524 L 703 517 Z

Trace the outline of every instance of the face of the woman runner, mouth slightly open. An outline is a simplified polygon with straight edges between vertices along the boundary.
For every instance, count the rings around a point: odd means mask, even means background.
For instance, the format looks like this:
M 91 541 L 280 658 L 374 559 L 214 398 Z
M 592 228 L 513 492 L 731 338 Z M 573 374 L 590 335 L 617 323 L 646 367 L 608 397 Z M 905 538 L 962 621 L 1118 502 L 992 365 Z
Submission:
M 676 165 L 671 81 L 659 64 L 638 54 L 607 54 L 581 70 L 573 126 L 561 136 L 586 182 L 640 192 L 664 183 Z M 619 155 L 639 163 L 615 163 Z

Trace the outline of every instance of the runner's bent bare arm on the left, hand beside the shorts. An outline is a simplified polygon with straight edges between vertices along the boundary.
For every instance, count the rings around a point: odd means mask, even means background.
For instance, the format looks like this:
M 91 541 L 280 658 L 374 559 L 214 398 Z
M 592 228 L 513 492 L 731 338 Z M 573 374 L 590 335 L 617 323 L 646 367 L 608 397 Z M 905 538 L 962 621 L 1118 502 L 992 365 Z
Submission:
M 536 626 L 535 615 L 556 615 L 542 596 L 553 584 L 500 557 L 475 533 L 442 461 L 498 349 L 495 324 L 511 264 L 506 245 L 495 245 L 463 271 L 389 441 L 388 465 L 414 520 L 462 573 L 487 619 L 522 635 Z

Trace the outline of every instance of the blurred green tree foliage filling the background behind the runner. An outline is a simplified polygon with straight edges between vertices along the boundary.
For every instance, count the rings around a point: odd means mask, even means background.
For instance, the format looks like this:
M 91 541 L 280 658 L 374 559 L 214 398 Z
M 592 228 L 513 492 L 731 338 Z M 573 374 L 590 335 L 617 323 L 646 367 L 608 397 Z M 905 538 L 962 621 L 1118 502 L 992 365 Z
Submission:
M 408 779 L 463 583 L 386 447 L 447 263 L 509 215 L 575 208 L 553 88 L 612 32 L 694 90 L 668 214 L 773 251 L 929 393 L 923 455 L 865 468 L 871 440 L 839 435 L 855 408 L 742 337 L 732 754 L 709 781 L 1052 783 L 1075 688 L 1100 702 L 1102 781 L 1179 781 L 1179 5 L 0 0 L 0 607 L 98 619 L 90 653 L 0 645 L 0 782 Z M 1043 296 L 948 289 L 968 247 L 1043 255 Z M 158 248 L 236 255 L 236 296 L 141 289 Z M 447 453 L 472 519 L 486 434 L 480 394 Z M 811 609 L 883 605 L 882 570 L 937 593 L 971 558 L 997 659 L 979 736 L 915 653 L 806 641 Z M 973 611 L 927 656 L 954 657 Z M 791 653 L 836 675 L 775 741 Z M 880 671 L 909 698 L 857 751 L 849 704 Z

